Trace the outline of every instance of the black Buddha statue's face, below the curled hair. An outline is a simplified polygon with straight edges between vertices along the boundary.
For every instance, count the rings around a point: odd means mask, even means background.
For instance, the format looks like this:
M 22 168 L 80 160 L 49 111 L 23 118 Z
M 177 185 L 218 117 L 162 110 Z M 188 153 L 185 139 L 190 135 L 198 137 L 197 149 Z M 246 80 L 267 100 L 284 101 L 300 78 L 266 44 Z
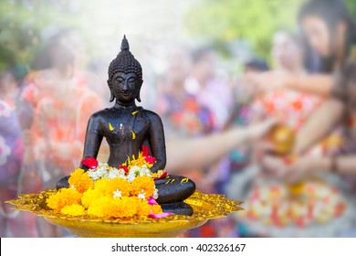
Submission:
M 111 95 L 121 103 L 131 103 L 137 99 L 140 100 L 142 80 L 136 73 L 117 72 L 110 80 Z M 111 97 L 112 97 L 111 96 Z

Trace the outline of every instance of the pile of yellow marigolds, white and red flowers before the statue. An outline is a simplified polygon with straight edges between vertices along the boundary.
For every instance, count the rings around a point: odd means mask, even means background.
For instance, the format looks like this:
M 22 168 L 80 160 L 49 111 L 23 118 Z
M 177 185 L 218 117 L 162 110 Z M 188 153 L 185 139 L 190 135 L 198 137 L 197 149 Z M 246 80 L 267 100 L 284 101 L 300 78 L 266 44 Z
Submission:
M 103 219 L 128 219 L 169 216 L 157 204 L 154 180 L 167 176 L 151 172 L 155 158 L 143 146 L 138 158 L 133 155 L 119 167 L 98 163 L 93 157 L 82 161 L 89 171 L 76 169 L 69 177 L 68 188 L 61 188 L 47 198 L 47 207 L 68 216 L 89 215 Z

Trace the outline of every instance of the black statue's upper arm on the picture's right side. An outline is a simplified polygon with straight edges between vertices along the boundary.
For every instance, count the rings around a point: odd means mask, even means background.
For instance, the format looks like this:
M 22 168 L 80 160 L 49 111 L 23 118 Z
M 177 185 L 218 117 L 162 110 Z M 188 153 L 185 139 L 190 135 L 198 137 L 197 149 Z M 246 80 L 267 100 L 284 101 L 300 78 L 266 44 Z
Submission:
M 156 157 L 156 163 L 152 167 L 152 172 L 163 170 L 166 165 L 166 152 L 164 131 L 161 118 L 152 113 L 150 115 L 151 127 L 149 133 L 149 144 L 151 147 L 152 155 Z

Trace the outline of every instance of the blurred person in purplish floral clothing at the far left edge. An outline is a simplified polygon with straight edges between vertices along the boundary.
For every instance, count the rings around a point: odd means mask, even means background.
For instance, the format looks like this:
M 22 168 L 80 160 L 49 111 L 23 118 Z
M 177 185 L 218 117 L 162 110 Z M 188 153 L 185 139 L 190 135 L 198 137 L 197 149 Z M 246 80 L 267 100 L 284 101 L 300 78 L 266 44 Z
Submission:
M 36 216 L 12 211 L 5 204 L 21 193 L 37 193 L 41 188 L 40 176 L 28 165 L 26 142 L 16 112 L 18 88 L 10 71 L 0 74 L 0 237 L 38 237 Z

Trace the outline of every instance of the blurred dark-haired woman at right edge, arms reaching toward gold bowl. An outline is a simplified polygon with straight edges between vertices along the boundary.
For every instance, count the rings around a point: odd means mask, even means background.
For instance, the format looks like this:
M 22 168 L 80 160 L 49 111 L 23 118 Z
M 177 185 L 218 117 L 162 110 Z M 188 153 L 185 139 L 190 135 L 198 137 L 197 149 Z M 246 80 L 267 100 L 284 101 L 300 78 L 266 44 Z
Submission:
M 330 99 L 325 101 L 308 122 L 299 130 L 292 152 L 294 161 L 267 155 L 263 157 L 264 168 L 269 175 L 298 184 L 312 176 L 343 177 L 347 208 L 353 210 L 355 183 L 355 74 L 356 74 L 356 29 L 355 22 L 345 5 L 339 0 L 311 0 L 299 12 L 299 23 L 310 45 L 324 59 L 329 60 L 334 75 L 325 75 L 330 83 Z M 319 86 L 325 83 L 319 84 Z M 338 154 L 331 156 L 305 155 L 308 149 L 326 137 L 332 129 L 342 124 L 345 136 Z M 329 174 L 328 174 L 329 173 Z M 346 182 L 345 182 L 346 181 Z M 353 192 L 351 192 L 353 191 Z M 348 195 L 350 193 L 350 195 Z M 353 194 L 352 194 L 353 193 Z M 342 216 L 340 217 L 342 219 Z M 353 225 L 353 224 L 351 224 Z M 337 229 L 334 236 L 355 236 L 355 227 Z M 332 230 L 331 229 L 331 230 Z M 348 229 L 352 229 L 351 232 Z M 330 231 L 330 230 L 329 230 Z M 342 234 L 342 232 L 345 232 Z

